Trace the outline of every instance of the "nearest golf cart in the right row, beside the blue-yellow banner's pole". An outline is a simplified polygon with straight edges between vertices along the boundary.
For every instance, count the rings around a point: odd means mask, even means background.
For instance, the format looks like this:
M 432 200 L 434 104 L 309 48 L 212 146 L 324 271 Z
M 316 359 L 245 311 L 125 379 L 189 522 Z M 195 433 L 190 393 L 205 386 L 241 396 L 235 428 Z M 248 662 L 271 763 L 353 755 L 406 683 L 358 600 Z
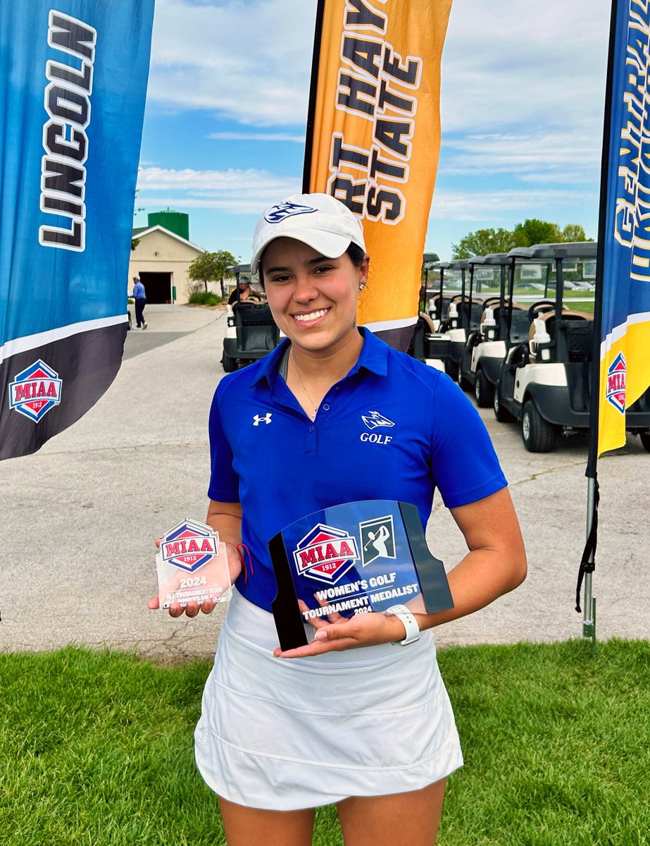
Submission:
M 507 356 L 494 389 L 497 420 L 518 420 L 524 447 L 532 453 L 553 449 L 559 431 L 586 431 L 589 426 L 593 315 L 563 305 L 563 261 L 595 260 L 593 241 L 516 247 L 510 259 L 506 323 Z M 511 308 L 516 261 L 554 263 L 555 298 L 534 302 L 525 340 L 517 343 Z

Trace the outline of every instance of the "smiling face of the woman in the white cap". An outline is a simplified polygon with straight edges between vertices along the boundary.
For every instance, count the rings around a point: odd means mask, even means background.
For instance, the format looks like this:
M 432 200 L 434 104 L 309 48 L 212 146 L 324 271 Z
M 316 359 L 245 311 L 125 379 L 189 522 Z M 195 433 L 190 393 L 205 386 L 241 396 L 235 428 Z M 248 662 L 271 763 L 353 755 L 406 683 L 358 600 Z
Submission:
M 368 256 L 357 267 L 347 253 L 328 259 L 302 241 L 277 238 L 261 270 L 273 317 L 296 349 L 330 354 L 358 343 L 357 299 Z

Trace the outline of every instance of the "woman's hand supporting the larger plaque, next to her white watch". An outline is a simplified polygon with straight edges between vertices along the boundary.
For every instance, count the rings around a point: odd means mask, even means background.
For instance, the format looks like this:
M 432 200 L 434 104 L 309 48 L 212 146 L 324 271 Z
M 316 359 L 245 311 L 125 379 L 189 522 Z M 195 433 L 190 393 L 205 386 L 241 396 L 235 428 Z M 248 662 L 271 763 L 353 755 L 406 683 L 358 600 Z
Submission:
M 307 606 L 298 601 L 301 611 L 307 611 Z M 341 614 L 330 614 L 329 622 L 321 618 L 309 619 L 309 623 L 316 629 L 314 640 L 298 649 L 281 651 L 278 646 L 273 651 L 276 658 L 305 658 L 310 655 L 322 655 L 324 652 L 341 652 L 344 649 L 357 649 L 359 646 L 376 646 L 382 643 L 392 643 L 403 640 L 404 626 L 399 618 L 377 612 L 355 614 L 353 617 L 341 617 Z

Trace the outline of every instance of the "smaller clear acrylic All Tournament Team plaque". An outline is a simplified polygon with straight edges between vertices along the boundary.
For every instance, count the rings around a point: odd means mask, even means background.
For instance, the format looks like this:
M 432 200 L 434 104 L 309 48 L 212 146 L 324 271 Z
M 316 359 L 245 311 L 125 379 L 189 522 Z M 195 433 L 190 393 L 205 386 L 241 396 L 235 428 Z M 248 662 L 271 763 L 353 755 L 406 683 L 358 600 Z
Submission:
M 226 544 L 205 523 L 186 519 L 161 537 L 156 552 L 160 607 L 185 607 L 205 600 L 227 602 L 232 596 Z

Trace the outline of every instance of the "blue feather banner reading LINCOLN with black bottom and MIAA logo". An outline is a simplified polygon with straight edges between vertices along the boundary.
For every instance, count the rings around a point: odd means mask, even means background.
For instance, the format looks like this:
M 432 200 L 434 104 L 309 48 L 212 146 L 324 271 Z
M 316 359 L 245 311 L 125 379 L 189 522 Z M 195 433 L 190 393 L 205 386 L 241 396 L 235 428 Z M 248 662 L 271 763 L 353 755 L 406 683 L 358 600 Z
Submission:
M 0 3 L 0 458 L 119 369 L 153 7 Z

